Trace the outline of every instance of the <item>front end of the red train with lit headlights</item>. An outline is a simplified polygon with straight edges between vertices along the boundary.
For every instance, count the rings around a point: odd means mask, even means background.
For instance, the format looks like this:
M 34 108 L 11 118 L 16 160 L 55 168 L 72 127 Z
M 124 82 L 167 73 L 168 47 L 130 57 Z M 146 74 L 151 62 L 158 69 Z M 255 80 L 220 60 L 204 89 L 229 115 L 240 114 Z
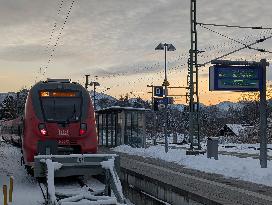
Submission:
M 38 154 L 96 153 L 95 115 L 87 90 L 61 79 L 35 84 L 25 105 L 22 151 L 28 168 Z

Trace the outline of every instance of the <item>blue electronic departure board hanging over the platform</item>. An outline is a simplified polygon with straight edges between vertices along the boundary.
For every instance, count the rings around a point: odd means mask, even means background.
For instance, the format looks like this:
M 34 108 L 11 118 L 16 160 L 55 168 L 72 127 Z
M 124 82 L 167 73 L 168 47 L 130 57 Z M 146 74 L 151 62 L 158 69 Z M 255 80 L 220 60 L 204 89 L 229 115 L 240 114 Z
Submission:
M 261 90 L 263 79 L 261 70 L 258 66 L 211 66 L 209 70 L 209 90 Z

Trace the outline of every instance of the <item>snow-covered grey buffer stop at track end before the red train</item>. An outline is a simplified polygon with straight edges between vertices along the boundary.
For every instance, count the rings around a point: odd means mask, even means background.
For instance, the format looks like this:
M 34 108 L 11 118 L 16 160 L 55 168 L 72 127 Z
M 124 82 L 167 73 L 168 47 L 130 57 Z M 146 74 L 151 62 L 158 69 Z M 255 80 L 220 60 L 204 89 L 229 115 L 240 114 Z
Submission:
M 115 156 L 39 155 L 35 157 L 34 176 L 44 177 L 43 181 L 39 181 L 39 186 L 45 204 L 124 204 L 121 183 L 114 169 Z M 82 161 L 75 162 L 74 160 L 79 157 Z M 75 170 L 78 171 L 76 175 L 81 175 L 86 172 L 87 168 L 90 172 L 89 175 L 71 177 L 75 175 Z M 91 177 L 97 174 L 102 176 L 103 183 Z M 55 176 L 59 178 L 55 178 Z

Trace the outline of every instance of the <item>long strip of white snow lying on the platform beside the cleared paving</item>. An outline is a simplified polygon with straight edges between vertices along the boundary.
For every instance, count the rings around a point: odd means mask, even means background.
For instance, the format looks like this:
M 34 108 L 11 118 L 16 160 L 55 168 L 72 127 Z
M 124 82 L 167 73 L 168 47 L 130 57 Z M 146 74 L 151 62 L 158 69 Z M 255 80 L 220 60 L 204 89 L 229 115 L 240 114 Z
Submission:
M 164 146 L 151 146 L 149 148 L 132 148 L 121 145 L 113 148 L 114 151 L 130 155 L 151 157 L 175 162 L 187 168 L 208 173 L 222 174 L 225 177 L 237 178 L 258 184 L 272 186 L 272 162 L 268 161 L 268 168 L 260 168 L 259 160 L 252 158 L 238 158 L 234 156 L 219 155 L 219 160 L 208 159 L 207 155 L 190 156 L 185 150 L 169 149 L 165 153 Z

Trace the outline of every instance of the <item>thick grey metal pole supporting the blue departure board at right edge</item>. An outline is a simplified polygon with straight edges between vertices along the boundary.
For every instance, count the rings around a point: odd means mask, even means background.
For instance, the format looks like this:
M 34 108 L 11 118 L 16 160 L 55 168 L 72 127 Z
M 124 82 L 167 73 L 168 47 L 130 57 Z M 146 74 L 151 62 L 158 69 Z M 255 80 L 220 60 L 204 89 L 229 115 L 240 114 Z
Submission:
M 266 59 L 260 61 L 263 82 L 260 90 L 260 164 L 261 168 L 267 168 L 267 108 L 266 108 Z

